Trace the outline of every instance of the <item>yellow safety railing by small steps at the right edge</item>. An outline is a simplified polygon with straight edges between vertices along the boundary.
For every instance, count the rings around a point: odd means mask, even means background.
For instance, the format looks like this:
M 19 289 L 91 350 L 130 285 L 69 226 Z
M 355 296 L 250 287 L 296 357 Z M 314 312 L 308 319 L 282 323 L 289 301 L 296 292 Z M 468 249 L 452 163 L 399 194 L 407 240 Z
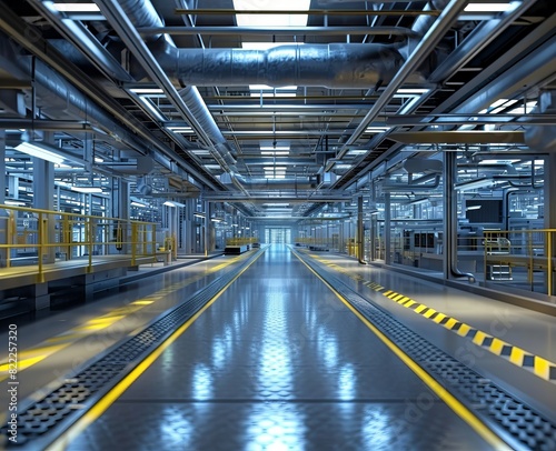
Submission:
M 555 243 L 555 229 L 485 231 L 485 282 L 554 295 Z

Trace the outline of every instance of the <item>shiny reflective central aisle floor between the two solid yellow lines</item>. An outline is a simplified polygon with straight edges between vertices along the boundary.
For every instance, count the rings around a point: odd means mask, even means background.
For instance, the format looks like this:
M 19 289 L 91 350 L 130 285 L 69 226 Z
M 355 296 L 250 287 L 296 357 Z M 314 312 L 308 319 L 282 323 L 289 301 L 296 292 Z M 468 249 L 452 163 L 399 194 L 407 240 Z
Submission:
M 274 245 L 70 449 L 480 450 L 475 431 Z

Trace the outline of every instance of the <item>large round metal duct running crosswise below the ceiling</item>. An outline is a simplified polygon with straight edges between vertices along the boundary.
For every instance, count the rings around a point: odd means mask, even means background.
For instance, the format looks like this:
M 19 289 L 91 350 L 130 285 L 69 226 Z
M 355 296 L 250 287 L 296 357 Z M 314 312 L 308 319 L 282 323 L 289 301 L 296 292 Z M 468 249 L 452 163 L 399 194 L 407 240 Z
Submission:
M 388 83 L 404 64 L 393 46 L 290 44 L 267 50 L 178 49 L 166 41 L 151 51 L 172 81 L 183 86 L 267 84 L 335 89 Z M 417 77 L 414 81 L 423 81 Z

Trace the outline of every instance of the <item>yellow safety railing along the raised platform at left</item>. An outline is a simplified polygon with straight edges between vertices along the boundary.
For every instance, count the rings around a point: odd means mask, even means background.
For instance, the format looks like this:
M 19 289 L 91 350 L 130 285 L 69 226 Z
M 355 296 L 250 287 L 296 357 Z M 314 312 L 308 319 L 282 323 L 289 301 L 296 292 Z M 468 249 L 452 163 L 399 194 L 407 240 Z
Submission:
M 1 268 L 38 267 L 79 259 L 92 264 L 119 255 L 136 265 L 155 261 L 156 224 L 79 213 L 0 204 Z M 116 257 L 111 257 L 116 258 Z

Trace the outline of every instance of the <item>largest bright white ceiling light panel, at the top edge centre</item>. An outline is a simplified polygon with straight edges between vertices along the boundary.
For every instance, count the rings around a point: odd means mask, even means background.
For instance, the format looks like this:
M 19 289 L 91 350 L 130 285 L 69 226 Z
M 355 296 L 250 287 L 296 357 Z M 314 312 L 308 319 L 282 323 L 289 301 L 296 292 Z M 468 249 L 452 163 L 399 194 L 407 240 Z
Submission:
M 289 11 L 308 11 L 310 0 L 234 0 L 234 9 L 284 10 L 284 14 L 236 14 L 238 27 L 305 27 L 307 14 L 288 14 Z

